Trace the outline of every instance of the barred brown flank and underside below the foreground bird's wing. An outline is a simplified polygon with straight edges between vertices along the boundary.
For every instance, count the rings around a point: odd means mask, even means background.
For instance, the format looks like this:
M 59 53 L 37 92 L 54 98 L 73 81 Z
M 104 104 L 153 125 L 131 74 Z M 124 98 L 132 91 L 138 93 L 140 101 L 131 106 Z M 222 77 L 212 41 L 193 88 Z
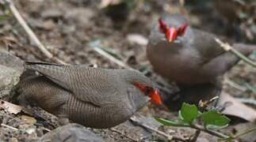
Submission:
M 82 102 L 44 76 L 22 80 L 17 90 L 20 93 L 19 100 L 34 103 L 56 116 L 67 116 L 71 121 L 88 127 L 109 128 L 126 121 L 134 114 L 121 101 L 113 101 L 104 107 Z

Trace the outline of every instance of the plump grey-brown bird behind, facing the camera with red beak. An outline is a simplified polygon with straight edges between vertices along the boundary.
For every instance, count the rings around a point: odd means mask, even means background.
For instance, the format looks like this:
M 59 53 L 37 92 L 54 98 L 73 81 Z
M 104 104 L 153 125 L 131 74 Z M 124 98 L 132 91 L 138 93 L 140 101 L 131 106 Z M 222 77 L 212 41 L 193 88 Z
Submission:
M 163 15 L 151 30 L 147 58 L 155 71 L 177 84 L 216 84 L 239 58 L 226 52 L 215 35 L 192 28 L 180 14 Z M 244 55 L 255 46 L 234 44 Z

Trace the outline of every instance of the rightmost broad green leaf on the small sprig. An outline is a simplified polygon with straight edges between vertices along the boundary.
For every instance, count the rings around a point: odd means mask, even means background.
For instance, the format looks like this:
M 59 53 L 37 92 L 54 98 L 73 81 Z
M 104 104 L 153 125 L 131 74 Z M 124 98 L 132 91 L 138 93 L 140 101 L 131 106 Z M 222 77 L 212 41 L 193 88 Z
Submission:
M 230 119 L 216 110 L 210 110 L 201 114 L 206 129 L 223 129 L 227 127 Z

